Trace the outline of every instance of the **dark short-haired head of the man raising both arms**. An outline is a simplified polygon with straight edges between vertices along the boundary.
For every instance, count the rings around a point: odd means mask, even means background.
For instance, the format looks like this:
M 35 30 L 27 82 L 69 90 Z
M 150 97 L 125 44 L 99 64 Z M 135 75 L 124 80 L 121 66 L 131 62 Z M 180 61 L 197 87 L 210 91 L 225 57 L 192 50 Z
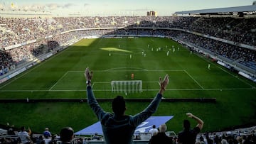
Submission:
M 123 96 L 117 96 L 112 101 L 112 110 L 118 116 L 121 116 L 125 111 L 125 101 Z

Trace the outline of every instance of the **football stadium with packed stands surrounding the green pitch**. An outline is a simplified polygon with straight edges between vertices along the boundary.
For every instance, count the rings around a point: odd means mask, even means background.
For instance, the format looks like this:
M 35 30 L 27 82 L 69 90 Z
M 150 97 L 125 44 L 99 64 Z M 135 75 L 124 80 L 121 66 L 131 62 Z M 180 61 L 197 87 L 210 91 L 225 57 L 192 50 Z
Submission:
M 1 13 L 1 143 L 19 143 L 21 126 L 33 143 L 45 128 L 58 143 L 66 126 L 75 131 L 74 144 L 105 143 L 87 104 L 87 67 L 102 109 L 112 112 L 120 95 L 131 116 L 154 99 L 159 77 L 169 75 L 157 111 L 135 131 L 134 143 L 149 143 L 151 126 L 163 123 L 176 143 L 188 112 L 203 120 L 197 141 L 256 143 L 255 3 L 170 16 Z M 100 140 L 91 140 L 95 133 Z

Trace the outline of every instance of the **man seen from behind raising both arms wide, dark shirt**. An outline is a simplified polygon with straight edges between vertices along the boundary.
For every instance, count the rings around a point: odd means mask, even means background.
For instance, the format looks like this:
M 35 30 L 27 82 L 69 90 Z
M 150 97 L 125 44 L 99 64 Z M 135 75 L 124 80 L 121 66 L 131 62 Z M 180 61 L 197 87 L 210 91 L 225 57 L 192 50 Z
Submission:
M 144 111 L 137 113 L 134 116 L 125 115 L 125 101 L 122 96 L 117 96 L 112 101 L 112 113 L 103 111 L 100 105 L 97 103 L 95 96 L 92 92 L 91 80 L 92 72 L 89 68 L 85 70 L 85 78 L 87 79 L 87 101 L 92 110 L 95 112 L 97 118 L 100 120 L 102 125 L 102 131 L 107 144 L 130 144 L 132 143 L 132 137 L 134 135 L 135 128 L 151 116 L 159 106 L 162 95 L 169 83 L 169 76 L 166 74 L 164 81 L 161 77 L 159 78 L 159 93 L 156 94 L 151 104 L 147 106 Z

